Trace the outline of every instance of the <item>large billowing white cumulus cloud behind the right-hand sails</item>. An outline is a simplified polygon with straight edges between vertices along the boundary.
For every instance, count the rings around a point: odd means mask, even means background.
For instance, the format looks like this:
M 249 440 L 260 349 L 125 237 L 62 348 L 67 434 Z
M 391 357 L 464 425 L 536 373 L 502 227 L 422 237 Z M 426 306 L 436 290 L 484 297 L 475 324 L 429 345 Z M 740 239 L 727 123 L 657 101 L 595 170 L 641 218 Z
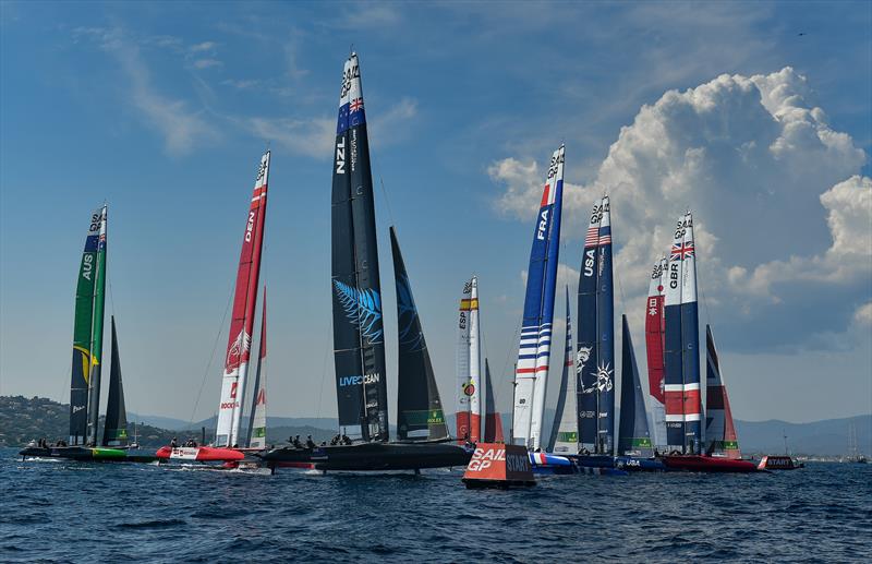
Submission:
M 813 98 L 789 67 L 666 92 L 621 129 L 592 181 L 567 181 L 565 237 L 580 239 L 584 223 L 572 218 L 608 193 L 616 265 L 631 297 L 644 295 L 651 264 L 687 208 L 694 212 L 701 293 L 716 298 L 708 305 L 753 319 L 762 313 L 753 300 L 798 308 L 800 281 L 807 300 L 821 285 L 860 291 L 872 273 L 872 181 L 858 176 L 867 155 L 831 128 Z M 509 157 L 488 175 L 502 185 L 497 209 L 529 220 L 544 180 L 538 164 Z M 850 314 L 843 317 L 844 328 Z

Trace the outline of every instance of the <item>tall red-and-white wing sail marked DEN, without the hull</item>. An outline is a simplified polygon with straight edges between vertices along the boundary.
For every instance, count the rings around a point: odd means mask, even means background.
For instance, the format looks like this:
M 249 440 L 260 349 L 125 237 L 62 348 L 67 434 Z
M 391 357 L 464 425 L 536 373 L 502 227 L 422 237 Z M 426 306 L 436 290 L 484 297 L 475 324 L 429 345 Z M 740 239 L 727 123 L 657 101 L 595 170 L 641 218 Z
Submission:
M 261 157 L 261 166 L 254 181 L 251 206 L 242 236 L 239 257 L 237 289 L 233 297 L 233 316 L 225 357 L 221 382 L 221 403 L 218 409 L 216 446 L 235 446 L 239 443 L 242 417 L 243 391 L 251 359 L 252 333 L 261 276 L 261 252 L 264 243 L 266 219 L 266 194 L 269 181 L 269 151 Z

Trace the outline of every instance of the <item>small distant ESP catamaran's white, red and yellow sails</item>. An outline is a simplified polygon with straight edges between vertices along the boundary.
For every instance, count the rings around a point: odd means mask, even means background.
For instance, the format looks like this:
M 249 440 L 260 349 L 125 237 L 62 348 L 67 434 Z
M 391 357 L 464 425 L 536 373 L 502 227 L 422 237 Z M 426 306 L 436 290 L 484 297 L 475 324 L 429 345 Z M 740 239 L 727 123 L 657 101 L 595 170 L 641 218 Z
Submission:
M 457 346 L 457 440 L 459 444 L 501 443 L 502 418 L 497 411 L 491 367 L 484 359 L 482 379 L 481 324 L 479 316 L 479 278 L 463 284 L 458 315 Z M 484 397 L 484 432 L 482 430 Z

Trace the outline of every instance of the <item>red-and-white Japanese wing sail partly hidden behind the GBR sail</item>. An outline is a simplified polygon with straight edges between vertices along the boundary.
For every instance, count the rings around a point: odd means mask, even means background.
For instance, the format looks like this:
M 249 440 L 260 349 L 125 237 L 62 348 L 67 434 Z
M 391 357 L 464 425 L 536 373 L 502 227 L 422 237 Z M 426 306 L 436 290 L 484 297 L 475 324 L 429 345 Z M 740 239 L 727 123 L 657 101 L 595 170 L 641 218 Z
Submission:
M 653 439 L 655 444 L 666 444 L 666 422 L 665 408 L 666 397 L 664 395 L 664 336 L 665 317 L 664 309 L 664 283 L 667 275 L 669 263 L 666 257 L 661 259 L 654 264 L 651 273 L 651 284 L 647 290 L 647 301 L 645 303 L 645 351 L 647 355 L 647 383 L 651 397 L 652 421 L 654 424 Z

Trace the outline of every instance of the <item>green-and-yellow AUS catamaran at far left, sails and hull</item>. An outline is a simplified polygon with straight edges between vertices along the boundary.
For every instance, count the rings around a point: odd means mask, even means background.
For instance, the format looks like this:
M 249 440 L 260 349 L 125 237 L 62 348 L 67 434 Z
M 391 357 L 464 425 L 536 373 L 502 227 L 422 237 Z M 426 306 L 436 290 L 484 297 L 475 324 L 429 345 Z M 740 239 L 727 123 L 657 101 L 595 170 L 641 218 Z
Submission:
M 104 204 L 90 215 L 85 249 L 78 268 L 73 327 L 73 362 L 70 383 L 69 441 L 55 446 L 45 440 L 21 451 L 23 457 L 71 458 L 75 460 L 132 460 L 129 457 L 128 421 L 121 384 L 121 359 L 114 316 L 112 356 L 109 371 L 109 398 L 104 434 L 98 435 L 100 379 L 102 372 L 102 333 L 106 302 L 107 209 Z M 102 447 L 98 447 L 97 445 Z

